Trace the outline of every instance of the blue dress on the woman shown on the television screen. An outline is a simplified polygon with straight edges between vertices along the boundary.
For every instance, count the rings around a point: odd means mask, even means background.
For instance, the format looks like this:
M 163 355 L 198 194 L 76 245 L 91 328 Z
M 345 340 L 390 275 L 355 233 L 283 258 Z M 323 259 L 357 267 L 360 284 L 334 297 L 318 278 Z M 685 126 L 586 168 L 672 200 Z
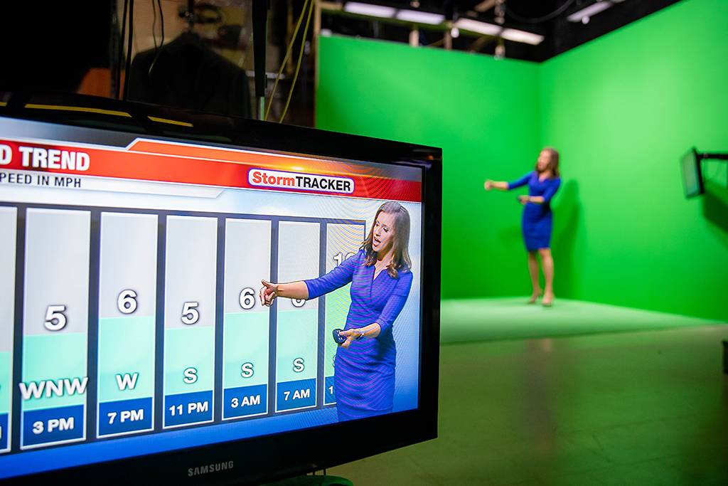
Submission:
M 326 275 L 304 281 L 309 299 L 351 282 L 352 305 L 344 329 L 375 322 L 381 327 L 376 338 L 354 341 L 348 349 L 336 350 L 333 383 L 339 420 L 391 412 L 395 396 L 397 350 L 392 324 L 407 301 L 412 273 L 400 270 L 397 278 L 392 278 L 384 269 L 373 278 L 374 265 L 366 267 L 365 260 L 361 250 Z

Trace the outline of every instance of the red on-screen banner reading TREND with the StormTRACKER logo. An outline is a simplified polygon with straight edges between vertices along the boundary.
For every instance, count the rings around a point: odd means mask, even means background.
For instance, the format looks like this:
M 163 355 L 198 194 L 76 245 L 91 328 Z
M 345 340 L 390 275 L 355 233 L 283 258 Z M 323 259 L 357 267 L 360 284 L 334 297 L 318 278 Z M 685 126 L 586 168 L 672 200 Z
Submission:
M 0 140 L 0 169 L 419 202 L 422 183 L 349 162 L 138 140 L 126 148 Z

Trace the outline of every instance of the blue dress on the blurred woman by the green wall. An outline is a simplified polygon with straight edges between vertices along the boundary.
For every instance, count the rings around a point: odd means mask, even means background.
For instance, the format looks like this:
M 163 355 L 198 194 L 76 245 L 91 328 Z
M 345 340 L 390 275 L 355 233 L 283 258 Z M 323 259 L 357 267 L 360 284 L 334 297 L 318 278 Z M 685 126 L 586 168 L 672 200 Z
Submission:
M 509 182 L 508 189 L 529 184 L 529 196 L 542 196 L 542 204 L 526 203 L 523 208 L 521 229 L 526 250 L 537 251 L 539 248 L 551 247 L 551 227 L 553 226 L 553 213 L 551 212 L 551 198 L 561 185 L 561 178 L 544 179 L 539 181 L 537 171 L 527 173 L 517 181 Z

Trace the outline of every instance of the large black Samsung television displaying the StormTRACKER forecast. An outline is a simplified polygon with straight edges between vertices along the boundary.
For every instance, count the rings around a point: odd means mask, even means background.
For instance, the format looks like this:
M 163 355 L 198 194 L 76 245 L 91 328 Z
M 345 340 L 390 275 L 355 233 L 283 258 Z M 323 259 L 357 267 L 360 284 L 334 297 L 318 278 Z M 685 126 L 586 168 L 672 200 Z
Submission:
M 259 483 L 435 438 L 441 170 L 429 146 L 0 95 L 0 479 Z M 400 264 L 374 278 L 385 230 Z

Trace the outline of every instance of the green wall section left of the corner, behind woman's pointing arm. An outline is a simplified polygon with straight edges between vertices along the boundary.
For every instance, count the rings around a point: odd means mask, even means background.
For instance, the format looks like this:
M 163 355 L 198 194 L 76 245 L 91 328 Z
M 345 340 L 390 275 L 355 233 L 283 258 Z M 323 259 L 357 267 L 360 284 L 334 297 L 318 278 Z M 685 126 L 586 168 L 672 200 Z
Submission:
M 483 190 L 539 152 L 533 63 L 342 37 L 320 39 L 317 127 L 443 149 L 443 298 L 516 295 L 521 206 Z

